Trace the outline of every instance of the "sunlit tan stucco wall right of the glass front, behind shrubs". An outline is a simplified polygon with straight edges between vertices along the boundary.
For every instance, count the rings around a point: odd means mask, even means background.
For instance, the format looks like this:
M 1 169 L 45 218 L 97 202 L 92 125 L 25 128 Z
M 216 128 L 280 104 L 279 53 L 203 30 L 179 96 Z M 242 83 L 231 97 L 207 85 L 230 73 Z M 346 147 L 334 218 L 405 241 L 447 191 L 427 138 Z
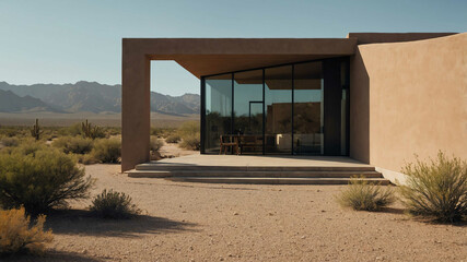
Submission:
M 393 171 L 439 150 L 467 159 L 467 33 L 357 48 L 351 156 Z

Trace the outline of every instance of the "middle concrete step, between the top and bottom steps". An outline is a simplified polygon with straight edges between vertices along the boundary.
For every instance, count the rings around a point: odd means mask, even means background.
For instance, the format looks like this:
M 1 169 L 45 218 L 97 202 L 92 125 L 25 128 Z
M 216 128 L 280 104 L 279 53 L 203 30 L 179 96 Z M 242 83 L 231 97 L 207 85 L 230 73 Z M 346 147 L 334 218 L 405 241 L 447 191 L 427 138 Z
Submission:
M 130 170 L 129 177 L 164 178 L 164 177 L 226 177 L 226 178 L 382 178 L 377 171 L 232 171 L 232 170 Z

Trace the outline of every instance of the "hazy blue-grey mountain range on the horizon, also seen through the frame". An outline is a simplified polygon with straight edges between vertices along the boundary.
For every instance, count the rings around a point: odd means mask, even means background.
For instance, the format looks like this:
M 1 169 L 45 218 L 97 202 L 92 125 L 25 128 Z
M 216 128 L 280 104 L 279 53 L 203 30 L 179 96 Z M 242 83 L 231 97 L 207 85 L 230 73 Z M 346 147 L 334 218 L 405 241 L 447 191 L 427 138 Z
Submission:
M 198 114 L 197 94 L 170 96 L 151 92 L 151 111 Z M 75 84 L 10 85 L 0 82 L 0 112 L 120 112 L 121 85 L 80 81 Z

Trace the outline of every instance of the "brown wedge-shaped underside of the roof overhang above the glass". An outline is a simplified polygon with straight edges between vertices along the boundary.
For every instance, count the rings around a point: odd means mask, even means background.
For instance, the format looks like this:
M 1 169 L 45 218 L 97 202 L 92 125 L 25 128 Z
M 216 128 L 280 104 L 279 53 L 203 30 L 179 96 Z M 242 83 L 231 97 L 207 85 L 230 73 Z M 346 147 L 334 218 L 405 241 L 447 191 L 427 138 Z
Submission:
M 302 62 L 336 55 L 189 55 L 177 56 L 175 60 L 191 74 L 200 79 L 203 75 L 250 70 L 283 63 Z M 157 57 L 157 60 L 163 60 Z

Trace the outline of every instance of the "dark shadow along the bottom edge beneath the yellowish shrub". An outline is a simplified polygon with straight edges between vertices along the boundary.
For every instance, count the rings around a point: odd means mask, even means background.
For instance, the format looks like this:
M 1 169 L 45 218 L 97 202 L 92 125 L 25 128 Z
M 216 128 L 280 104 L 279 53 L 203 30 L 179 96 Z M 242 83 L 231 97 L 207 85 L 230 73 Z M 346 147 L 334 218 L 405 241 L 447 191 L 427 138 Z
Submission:
M 58 252 L 58 251 L 47 251 L 46 254 L 42 257 L 20 254 L 14 257 L 3 257 L 0 258 L 0 261 L 11 261 L 11 262 L 40 262 L 40 261 L 70 261 L 70 262 L 100 262 L 104 261 L 103 259 L 90 258 L 84 254 L 70 253 L 70 252 Z

